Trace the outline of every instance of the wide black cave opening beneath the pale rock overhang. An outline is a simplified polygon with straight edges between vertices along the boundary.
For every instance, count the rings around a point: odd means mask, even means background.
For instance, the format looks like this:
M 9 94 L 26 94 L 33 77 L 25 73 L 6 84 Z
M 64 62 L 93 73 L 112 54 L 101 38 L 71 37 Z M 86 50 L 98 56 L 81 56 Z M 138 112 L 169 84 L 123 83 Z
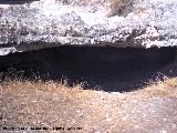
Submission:
M 0 57 L 6 76 L 37 80 L 67 79 L 86 89 L 129 92 L 148 82 L 176 76 L 175 48 L 71 47 L 43 49 Z M 7 74 L 8 73 L 8 74 Z

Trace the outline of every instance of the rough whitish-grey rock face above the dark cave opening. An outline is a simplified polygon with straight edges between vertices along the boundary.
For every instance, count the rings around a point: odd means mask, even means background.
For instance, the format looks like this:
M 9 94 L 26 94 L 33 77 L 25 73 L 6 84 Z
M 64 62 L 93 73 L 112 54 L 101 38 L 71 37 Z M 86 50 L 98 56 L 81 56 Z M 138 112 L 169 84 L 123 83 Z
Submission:
M 112 1 L 41 0 L 0 4 L 0 55 L 64 44 L 177 45 L 176 0 L 129 0 L 121 6 L 113 6 Z

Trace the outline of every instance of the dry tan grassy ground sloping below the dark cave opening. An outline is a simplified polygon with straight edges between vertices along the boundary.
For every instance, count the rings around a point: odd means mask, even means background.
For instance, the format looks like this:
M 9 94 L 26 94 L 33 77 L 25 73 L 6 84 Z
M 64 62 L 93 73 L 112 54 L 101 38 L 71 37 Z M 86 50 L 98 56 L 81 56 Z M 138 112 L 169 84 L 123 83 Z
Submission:
M 15 80 L 3 82 L 0 90 L 2 126 L 61 126 L 69 133 L 177 132 L 177 79 L 128 93 Z

